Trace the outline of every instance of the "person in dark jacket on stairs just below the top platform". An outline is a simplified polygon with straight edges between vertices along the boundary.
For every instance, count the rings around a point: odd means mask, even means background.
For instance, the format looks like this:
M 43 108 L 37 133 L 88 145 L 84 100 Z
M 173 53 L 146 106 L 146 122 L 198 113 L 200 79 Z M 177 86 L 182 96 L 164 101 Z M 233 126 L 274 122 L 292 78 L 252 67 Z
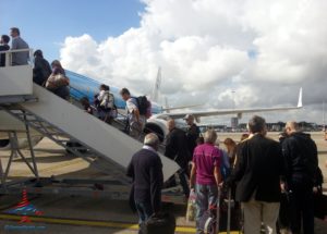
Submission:
M 40 86 L 45 86 L 51 72 L 51 66 L 49 62 L 44 59 L 43 51 L 36 50 L 34 52 L 33 82 Z

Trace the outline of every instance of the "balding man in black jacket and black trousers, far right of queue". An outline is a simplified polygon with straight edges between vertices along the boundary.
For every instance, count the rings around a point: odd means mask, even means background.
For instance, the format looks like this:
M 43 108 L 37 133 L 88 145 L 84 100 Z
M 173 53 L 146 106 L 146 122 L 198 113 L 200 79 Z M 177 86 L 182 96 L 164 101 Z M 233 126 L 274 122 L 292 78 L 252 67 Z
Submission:
M 318 168 L 316 144 L 311 136 L 299 132 L 296 122 L 286 124 L 288 137 L 282 143 L 286 159 L 287 189 L 291 192 L 291 231 L 296 234 L 303 222 L 304 234 L 314 233 L 313 187 Z

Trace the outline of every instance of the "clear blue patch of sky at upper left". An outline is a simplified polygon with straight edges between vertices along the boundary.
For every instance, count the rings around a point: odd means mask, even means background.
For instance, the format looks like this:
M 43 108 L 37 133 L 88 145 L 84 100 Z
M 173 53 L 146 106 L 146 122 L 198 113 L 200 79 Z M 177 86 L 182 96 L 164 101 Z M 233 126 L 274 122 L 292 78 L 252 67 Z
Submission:
M 31 48 L 59 58 L 68 36 L 89 34 L 97 41 L 140 26 L 140 0 L 1 0 L 0 34 L 19 27 Z

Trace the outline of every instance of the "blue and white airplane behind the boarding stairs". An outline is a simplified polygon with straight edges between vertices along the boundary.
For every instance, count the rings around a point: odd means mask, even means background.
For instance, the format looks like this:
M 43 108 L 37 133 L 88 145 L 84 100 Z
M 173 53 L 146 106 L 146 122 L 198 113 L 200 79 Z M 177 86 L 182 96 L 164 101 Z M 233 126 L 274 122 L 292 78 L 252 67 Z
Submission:
M 94 96 L 99 91 L 100 83 L 86 77 L 84 75 L 66 71 L 66 75 L 70 78 L 70 94 L 72 99 L 80 100 L 83 97 L 87 97 L 90 103 L 94 102 Z M 158 97 L 158 89 L 160 87 L 161 73 L 158 71 L 157 81 L 155 85 L 155 99 Z M 114 103 L 120 113 L 125 113 L 125 101 L 121 98 L 118 87 L 110 86 L 110 93 L 114 96 Z M 193 107 L 193 106 L 189 106 Z M 170 110 L 183 109 L 180 108 L 164 108 L 159 103 L 152 101 L 152 113 L 153 115 L 147 120 L 145 125 L 145 133 L 156 133 L 160 140 L 164 141 L 165 136 L 168 134 L 167 120 L 168 119 L 182 119 L 185 114 L 193 114 L 197 121 L 199 118 L 214 116 L 214 115 L 227 115 L 235 114 L 239 119 L 242 118 L 243 113 L 251 112 L 268 112 L 268 111 L 284 111 L 284 110 L 296 110 L 302 108 L 302 88 L 299 94 L 299 102 L 296 107 L 272 107 L 272 108 L 254 108 L 254 109 L 230 109 L 230 110 L 215 110 L 215 111 L 184 111 L 184 112 L 170 112 Z M 26 148 L 27 140 L 25 134 L 25 125 L 17 120 L 12 119 L 9 114 L 0 111 L 0 150 L 10 149 L 10 140 L 8 134 L 3 131 L 15 130 L 17 132 L 19 148 Z M 33 145 L 35 146 L 43 138 L 36 131 L 32 131 Z

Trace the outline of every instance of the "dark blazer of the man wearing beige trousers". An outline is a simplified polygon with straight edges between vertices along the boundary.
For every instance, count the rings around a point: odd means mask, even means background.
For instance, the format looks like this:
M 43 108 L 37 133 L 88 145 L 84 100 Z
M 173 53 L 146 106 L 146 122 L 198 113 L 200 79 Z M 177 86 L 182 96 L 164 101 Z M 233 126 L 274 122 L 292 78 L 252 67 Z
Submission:
M 279 143 L 259 134 L 240 144 L 237 164 L 227 184 L 238 182 L 237 200 L 280 201 L 280 176 L 284 165 Z

